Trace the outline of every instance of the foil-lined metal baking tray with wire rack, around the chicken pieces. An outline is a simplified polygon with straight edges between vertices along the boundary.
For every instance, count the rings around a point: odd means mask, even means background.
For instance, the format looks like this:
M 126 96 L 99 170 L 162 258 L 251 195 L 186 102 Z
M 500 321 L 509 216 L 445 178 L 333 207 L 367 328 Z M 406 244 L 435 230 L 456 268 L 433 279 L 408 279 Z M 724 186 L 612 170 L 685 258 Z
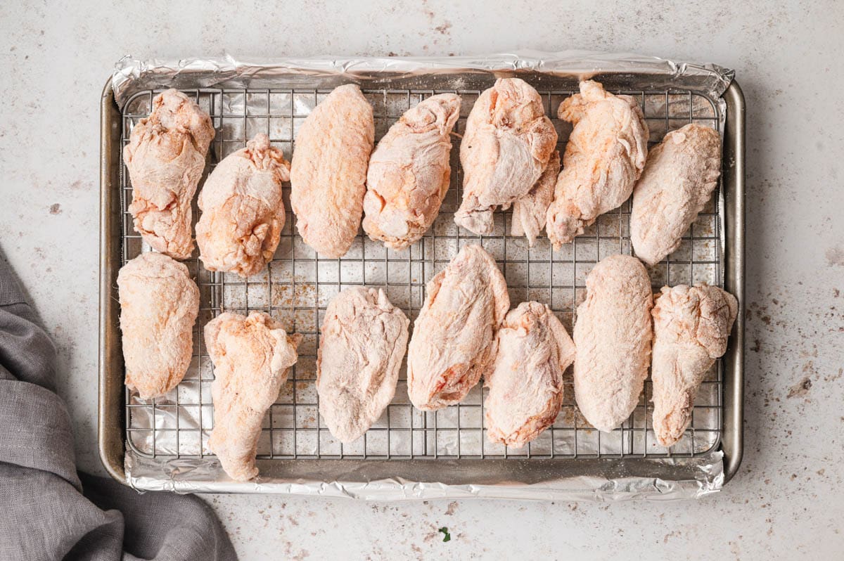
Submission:
M 741 90 L 732 73 L 718 67 L 674 62 L 661 66 L 664 61 L 659 59 L 600 57 L 365 59 L 355 62 L 357 69 L 348 61 L 328 59 L 248 65 L 229 61 L 230 72 L 221 70 L 219 63 L 124 62 L 106 84 L 101 100 L 99 444 L 111 475 L 138 489 L 371 499 L 680 498 L 721 488 L 733 477 L 742 455 Z M 556 118 L 556 108 L 576 90 L 581 77 L 598 79 L 615 93 L 635 96 L 645 112 L 652 144 L 690 121 L 722 132 L 719 189 L 678 251 L 649 270 L 655 290 L 663 284 L 705 281 L 735 294 L 741 308 L 727 354 L 701 387 L 690 429 L 671 449 L 659 446 L 652 434 L 650 380 L 630 419 L 620 429 L 601 434 L 576 409 L 571 370 L 554 426 L 521 450 L 486 440 L 480 385 L 457 406 L 420 412 L 408 401 L 402 374 L 382 418 L 351 445 L 334 440 L 319 418 L 314 385 L 319 326 L 328 301 L 340 289 L 354 284 L 381 287 L 414 320 L 424 301 L 425 282 L 459 247 L 480 243 L 499 262 L 513 305 L 527 299 L 547 303 L 571 332 L 589 269 L 604 256 L 630 254 L 629 201 L 556 252 L 550 250 L 547 238 L 528 249 L 523 238 L 510 236 L 509 213 L 496 214 L 495 232 L 490 236 L 476 236 L 454 225 L 462 184 L 459 135 L 473 101 L 500 76 L 518 76 L 538 89 L 560 132 L 561 152 L 571 127 Z M 428 95 L 452 91 L 463 97 L 452 138 L 452 185 L 436 223 L 409 251 L 385 250 L 360 232 L 346 256 L 317 258 L 296 234 L 289 189 L 285 189 L 287 222 L 265 272 L 244 281 L 229 273 L 206 271 L 196 253 L 186 262 L 201 294 L 191 368 L 167 396 L 149 403 L 138 401 L 123 386 L 116 292 L 118 269 L 149 249 L 133 231 L 127 213 L 132 194 L 122 148 L 131 128 L 149 113 L 154 94 L 177 87 L 194 96 L 214 120 L 216 137 L 206 176 L 220 159 L 243 147 L 257 132 L 268 133 L 289 159 L 295 132 L 313 106 L 333 87 L 350 81 L 360 84 L 374 107 L 376 140 L 403 111 Z M 204 447 L 213 421 L 210 385 L 214 374 L 197 334 L 220 310 L 264 310 L 289 331 L 304 336 L 299 362 L 264 420 L 257 482 L 230 481 Z

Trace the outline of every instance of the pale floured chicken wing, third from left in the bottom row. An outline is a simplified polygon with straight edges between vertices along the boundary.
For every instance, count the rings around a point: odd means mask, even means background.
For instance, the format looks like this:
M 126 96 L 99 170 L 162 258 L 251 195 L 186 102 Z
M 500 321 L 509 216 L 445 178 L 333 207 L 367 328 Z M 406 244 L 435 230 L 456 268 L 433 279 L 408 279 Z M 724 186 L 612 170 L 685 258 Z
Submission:
M 325 310 L 317 357 L 319 413 L 341 442 L 357 440 L 396 393 L 408 321 L 383 290 L 354 287 Z

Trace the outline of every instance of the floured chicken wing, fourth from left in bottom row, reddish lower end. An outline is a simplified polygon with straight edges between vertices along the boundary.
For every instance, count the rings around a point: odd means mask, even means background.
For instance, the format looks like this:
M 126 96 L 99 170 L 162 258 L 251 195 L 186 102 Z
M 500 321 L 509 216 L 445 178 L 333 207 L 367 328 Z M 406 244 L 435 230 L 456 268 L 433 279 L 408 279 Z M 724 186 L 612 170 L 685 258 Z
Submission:
M 507 283 L 480 245 L 467 245 L 425 287 L 408 347 L 408 395 L 423 410 L 463 400 L 490 365 Z

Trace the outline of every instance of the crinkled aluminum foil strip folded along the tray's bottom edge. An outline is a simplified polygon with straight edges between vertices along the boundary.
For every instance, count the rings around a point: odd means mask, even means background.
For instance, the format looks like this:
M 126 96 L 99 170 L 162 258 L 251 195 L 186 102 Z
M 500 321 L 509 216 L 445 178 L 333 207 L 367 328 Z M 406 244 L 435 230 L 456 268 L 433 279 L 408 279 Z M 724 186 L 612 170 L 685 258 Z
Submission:
M 388 477 L 360 482 L 338 478 L 313 481 L 306 477 L 257 477 L 250 483 L 237 483 L 225 477 L 219 466 L 192 459 L 160 461 L 127 453 L 127 481 L 139 491 L 175 491 L 176 493 L 256 493 L 297 494 L 334 499 L 398 501 L 414 499 L 522 499 L 522 500 L 595 500 L 612 502 L 632 499 L 698 499 L 717 493 L 723 485 L 722 453 L 712 451 L 690 459 L 670 458 L 651 461 L 654 467 L 668 468 L 684 477 L 665 479 L 644 474 L 601 472 L 599 466 L 583 461 L 594 474 L 554 477 L 537 483 L 500 481 L 496 483 L 447 484 L 408 481 Z M 441 472 L 447 461 L 423 461 L 431 474 Z M 216 462 L 214 462 L 216 463 Z M 305 461 L 306 463 L 306 461 Z M 349 462 L 349 476 L 355 477 L 360 462 Z M 446 465 L 443 465 L 446 464 Z M 657 465 L 658 464 L 658 465 Z M 258 467 L 263 469 L 262 461 Z M 453 466 L 452 466 L 453 467 Z

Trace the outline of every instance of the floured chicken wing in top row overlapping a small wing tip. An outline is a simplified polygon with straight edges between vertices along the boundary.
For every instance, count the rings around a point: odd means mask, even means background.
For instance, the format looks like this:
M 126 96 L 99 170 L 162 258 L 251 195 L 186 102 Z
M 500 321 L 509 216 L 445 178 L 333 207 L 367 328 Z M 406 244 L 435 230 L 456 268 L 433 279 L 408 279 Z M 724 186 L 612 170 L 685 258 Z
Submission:
M 475 234 L 492 233 L 495 207 L 509 206 L 536 184 L 557 144 L 536 89 L 499 78 L 480 94 L 460 144 L 463 202 L 454 222 Z

